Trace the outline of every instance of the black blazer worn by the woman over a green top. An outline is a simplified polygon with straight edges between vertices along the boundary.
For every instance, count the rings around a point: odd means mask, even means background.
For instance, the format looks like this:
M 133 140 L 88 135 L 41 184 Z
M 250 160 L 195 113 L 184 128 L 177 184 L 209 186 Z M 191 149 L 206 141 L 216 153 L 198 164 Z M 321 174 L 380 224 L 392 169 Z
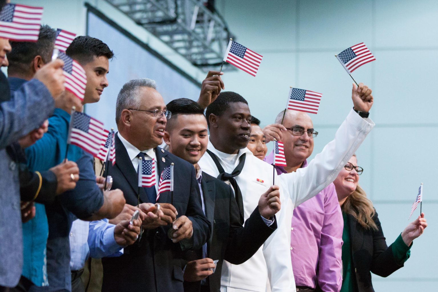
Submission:
M 347 215 L 350 227 L 350 244 L 352 256 L 351 274 L 357 284 L 357 292 L 374 292 L 371 272 L 381 277 L 388 277 L 403 264 L 399 265 L 392 256 L 392 245 L 387 246 L 385 236 L 377 215 L 373 216 L 378 230 L 364 229 L 352 215 Z

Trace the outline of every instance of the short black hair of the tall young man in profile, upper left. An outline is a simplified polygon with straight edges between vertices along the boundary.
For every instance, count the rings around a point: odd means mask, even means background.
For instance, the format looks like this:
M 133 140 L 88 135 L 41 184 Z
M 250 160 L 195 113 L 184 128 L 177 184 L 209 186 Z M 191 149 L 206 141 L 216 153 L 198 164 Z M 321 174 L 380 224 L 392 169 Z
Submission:
M 106 43 L 89 35 L 76 37 L 65 52 L 67 56 L 77 60 L 81 65 L 90 63 L 94 57 L 106 56 L 111 60 L 114 56 Z

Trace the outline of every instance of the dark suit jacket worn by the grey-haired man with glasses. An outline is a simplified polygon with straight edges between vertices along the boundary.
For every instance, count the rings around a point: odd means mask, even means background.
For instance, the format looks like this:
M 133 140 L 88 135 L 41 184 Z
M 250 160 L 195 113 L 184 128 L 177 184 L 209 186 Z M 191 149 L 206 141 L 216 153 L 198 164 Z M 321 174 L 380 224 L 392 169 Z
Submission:
M 186 215 L 193 223 L 193 236 L 180 243 L 172 243 L 167 237 L 170 225 L 153 230 L 145 230 L 141 240 L 124 248 L 121 257 L 102 259 L 102 291 L 119 292 L 182 292 L 183 250 L 199 249 L 210 237 L 211 227 L 202 211 L 198 183 L 193 165 L 155 148 L 159 173 L 174 163 L 173 205 L 178 216 Z M 137 205 L 138 175 L 132 166 L 126 148 L 116 136 L 116 164 L 108 169 L 113 177 L 113 189 L 124 193 L 127 204 Z M 140 188 L 140 201 L 148 202 L 148 196 Z M 170 192 L 161 193 L 159 203 L 170 203 Z M 155 203 L 155 202 L 152 202 Z

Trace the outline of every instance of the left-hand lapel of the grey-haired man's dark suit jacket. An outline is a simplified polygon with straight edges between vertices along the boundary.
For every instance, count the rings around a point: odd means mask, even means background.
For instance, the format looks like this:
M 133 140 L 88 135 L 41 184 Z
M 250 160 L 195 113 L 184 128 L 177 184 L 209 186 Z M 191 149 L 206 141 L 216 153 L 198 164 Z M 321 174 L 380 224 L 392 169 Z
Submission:
M 116 135 L 116 165 L 120 172 L 125 177 L 126 181 L 131 185 L 135 194 L 138 194 L 138 174 L 132 166 L 128 152 L 118 135 Z M 140 188 L 140 201 L 149 202 L 145 190 Z

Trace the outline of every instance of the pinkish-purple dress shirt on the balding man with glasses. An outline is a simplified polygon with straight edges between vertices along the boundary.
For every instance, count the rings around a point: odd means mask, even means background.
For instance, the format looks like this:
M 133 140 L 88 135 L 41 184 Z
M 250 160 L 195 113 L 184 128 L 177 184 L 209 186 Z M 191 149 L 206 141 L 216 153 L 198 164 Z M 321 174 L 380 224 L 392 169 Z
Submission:
M 264 159 L 273 163 L 271 152 Z M 302 167 L 307 166 L 304 161 Z M 275 166 L 277 174 L 286 173 Z M 342 285 L 343 218 L 333 183 L 293 210 L 290 254 L 297 286 L 339 292 Z

